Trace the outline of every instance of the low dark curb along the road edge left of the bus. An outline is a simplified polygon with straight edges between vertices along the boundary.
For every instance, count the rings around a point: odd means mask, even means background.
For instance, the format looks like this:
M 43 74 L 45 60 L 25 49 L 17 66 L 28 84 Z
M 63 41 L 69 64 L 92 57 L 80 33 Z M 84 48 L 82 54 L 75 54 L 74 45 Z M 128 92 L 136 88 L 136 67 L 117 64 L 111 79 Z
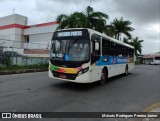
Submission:
M 21 70 L 13 70 L 13 71 L 2 71 L 0 72 L 0 75 L 33 73 L 33 72 L 43 72 L 43 71 L 48 71 L 48 69 L 21 69 Z

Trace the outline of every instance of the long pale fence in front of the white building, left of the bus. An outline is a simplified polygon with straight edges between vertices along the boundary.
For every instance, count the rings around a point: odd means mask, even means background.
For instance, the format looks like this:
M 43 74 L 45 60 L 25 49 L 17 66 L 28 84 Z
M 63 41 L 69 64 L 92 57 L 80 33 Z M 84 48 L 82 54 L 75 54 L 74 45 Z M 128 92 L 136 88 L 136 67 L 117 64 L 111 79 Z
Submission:
M 48 63 L 49 43 L 26 43 L 0 39 L 0 65 L 34 65 Z

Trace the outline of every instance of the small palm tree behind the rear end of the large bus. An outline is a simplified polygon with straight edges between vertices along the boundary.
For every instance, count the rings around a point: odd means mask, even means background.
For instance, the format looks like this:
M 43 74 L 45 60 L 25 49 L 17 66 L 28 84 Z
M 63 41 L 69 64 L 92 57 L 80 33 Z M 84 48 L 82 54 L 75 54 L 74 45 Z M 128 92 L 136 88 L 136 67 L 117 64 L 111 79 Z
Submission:
M 138 37 L 132 38 L 131 41 L 129 41 L 129 39 L 127 39 L 127 38 L 124 38 L 124 39 L 123 39 L 123 42 L 134 46 L 135 55 L 136 55 L 136 56 L 138 55 L 138 53 L 139 53 L 139 54 L 142 53 L 142 42 L 143 42 L 143 40 L 139 40 Z

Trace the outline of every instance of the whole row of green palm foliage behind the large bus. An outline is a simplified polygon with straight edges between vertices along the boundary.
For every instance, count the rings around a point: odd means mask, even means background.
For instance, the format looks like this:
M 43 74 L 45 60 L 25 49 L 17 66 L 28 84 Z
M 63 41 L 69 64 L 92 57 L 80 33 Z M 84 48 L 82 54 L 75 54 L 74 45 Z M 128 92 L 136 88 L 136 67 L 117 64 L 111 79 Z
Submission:
M 70 15 L 61 14 L 57 17 L 59 26 L 57 29 L 67 28 L 91 28 L 101 33 L 105 33 L 108 36 L 120 39 L 121 34 L 126 35 L 129 39 L 132 38 L 130 32 L 134 30 L 131 27 L 132 22 L 124 20 L 121 17 L 119 20 L 115 18 L 110 25 L 106 24 L 106 20 L 109 16 L 102 12 L 95 12 L 91 6 L 86 8 L 85 12 L 74 12 Z M 143 40 L 139 40 L 138 37 L 132 38 L 131 42 L 124 40 L 125 43 L 133 45 L 135 47 L 135 54 L 142 52 L 141 43 Z

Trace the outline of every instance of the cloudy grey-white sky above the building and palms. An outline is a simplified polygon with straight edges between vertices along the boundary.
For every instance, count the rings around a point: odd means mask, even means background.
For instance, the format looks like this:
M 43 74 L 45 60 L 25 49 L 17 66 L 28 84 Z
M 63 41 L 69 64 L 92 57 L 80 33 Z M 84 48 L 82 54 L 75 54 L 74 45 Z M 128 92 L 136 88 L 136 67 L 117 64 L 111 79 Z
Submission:
M 130 20 L 133 37 L 144 40 L 143 53 L 160 51 L 160 0 L 0 0 L 0 17 L 21 14 L 28 17 L 29 25 L 55 21 L 61 14 L 84 11 L 91 5 L 95 11 L 114 18 Z

